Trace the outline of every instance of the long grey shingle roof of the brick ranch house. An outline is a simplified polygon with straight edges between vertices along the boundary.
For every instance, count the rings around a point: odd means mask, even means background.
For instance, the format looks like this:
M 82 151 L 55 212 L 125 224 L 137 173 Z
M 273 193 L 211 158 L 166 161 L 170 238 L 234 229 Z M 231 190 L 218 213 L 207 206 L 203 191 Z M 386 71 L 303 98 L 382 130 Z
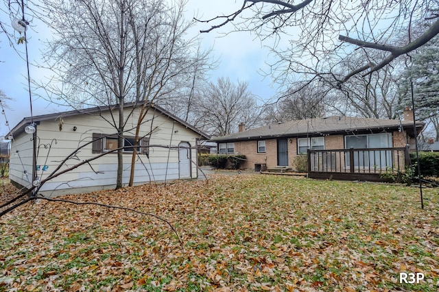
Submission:
M 425 123 L 416 122 L 418 130 L 421 130 L 424 125 Z M 306 136 L 307 134 L 316 136 L 322 134 L 335 134 L 337 132 L 377 132 L 394 130 L 401 126 L 404 130 L 407 130 L 408 134 L 413 136 L 413 121 L 358 117 L 327 117 L 274 123 L 226 136 L 214 137 L 211 141 L 245 141 L 259 138 Z

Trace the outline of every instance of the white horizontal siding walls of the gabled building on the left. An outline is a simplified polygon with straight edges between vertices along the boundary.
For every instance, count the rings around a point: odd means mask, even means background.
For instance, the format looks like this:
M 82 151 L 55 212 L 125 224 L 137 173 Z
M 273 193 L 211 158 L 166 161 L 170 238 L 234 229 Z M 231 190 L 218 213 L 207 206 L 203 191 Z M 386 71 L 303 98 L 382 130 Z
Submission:
M 128 114 L 128 110 L 126 111 Z M 115 110 L 115 117 L 117 117 L 117 110 Z M 148 112 L 146 121 L 141 127 L 141 136 L 150 132 L 151 128 L 155 129 L 150 139 L 150 158 L 145 154 L 140 154 L 140 159 L 137 158 L 135 167 L 134 182 L 137 184 L 164 180 L 175 180 L 179 178 L 178 168 L 178 149 L 168 149 L 163 147 L 154 147 L 154 145 L 162 145 L 165 147 L 170 145 L 177 147 L 181 141 L 190 143 L 195 147 L 196 138 L 200 138 L 198 134 L 178 122 L 174 123 L 173 119 L 166 117 L 163 114 L 155 113 L 154 119 L 153 110 Z M 107 121 L 112 121 L 109 112 L 103 114 Z M 134 114 L 126 124 L 126 130 L 135 127 L 137 124 L 137 114 Z M 93 133 L 114 134 L 115 128 L 112 127 L 99 115 L 81 114 L 75 117 L 62 118 L 62 130 L 59 129 L 59 119 L 53 121 L 41 121 L 37 127 L 38 138 L 40 143 L 38 147 L 38 158 L 36 165 L 40 166 L 38 176 L 42 179 L 47 178 L 49 173 L 54 171 L 60 162 L 71 155 L 72 152 L 88 142 L 92 141 Z M 116 118 L 117 120 L 117 118 Z M 73 131 L 73 127 L 77 130 Z M 127 136 L 134 136 L 135 129 L 126 132 Z M 28 149 L 26 151 L 27 162 L 32 169 L 32 143 L 27 143 Z M 50 146 L 51 145 L 51 146 Z M 29 151 L 30 149 L 30 151 Z M 80 149 L 75 156 L 62 165 L 60 171 L 73 167 L 83 160 L 87 160 L 99 154 L 92 154 L 92 145 L 86 145 Z M 169 157 L 169 158 L 168 158 Z M 123 184 L 128 184 L 130 178 L 130 162 L 132 154 L 123 154 Z M 196 168 L 196 149 L 191 151 L 191 176 L 197 177 Z M 47 170 L 43 171 L 44 165 L 47 165 Z M 92 169 L 93 167 L 93 169 Z M 14 164 L 14 180 L 19 174 L 19 163 Z M 95 173 L 97 172 L 97 173 Z M 23 171 L 22 171 L 23 173 Z M 29 173 L 30 172 L 29 170 Z M 116 183 L 117 175 L 117 153 L 106 154 L 101 158 L 97 158 L 90 162 L 90 165 L 82 165 L 67 173 L 46 182 L 40 189 L 42 193 L 47 195 L 60 195 L 62 193 L 78 193 L 82 191 L 92 191 L 97 189 L 112 188 Z M 32 175 L 29 175 L 29 177 Z M 12 179 L 12 178 L 11 178 Z M 16 182 L 19 182 L 16 180 Z M 23 180 L 20 180 L 23 182 Z M 73 189 L 75 188 L 75 189 Z M 82 189 L 78 189 L 82 188 Z M 56 192 L 54 192 L 56 190 Z

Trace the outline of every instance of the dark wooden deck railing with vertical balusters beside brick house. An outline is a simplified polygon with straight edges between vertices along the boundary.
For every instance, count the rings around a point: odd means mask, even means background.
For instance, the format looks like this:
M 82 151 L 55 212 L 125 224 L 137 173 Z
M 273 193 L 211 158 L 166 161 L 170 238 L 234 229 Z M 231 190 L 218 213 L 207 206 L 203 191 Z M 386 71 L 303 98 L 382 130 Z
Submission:
M 381 173 L 404 171 L 406 165 L 410 165 L 408 147 L 308 150 L 310 178 L 371 180 Z

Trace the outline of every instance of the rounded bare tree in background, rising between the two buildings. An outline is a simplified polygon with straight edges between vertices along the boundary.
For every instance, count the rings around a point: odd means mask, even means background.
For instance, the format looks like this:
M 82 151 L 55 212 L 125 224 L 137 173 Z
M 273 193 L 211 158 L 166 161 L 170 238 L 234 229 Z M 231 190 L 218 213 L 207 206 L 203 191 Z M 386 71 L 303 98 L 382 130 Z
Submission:
M 248 90 L 248 84 L 240 81 L 234 84 L 224 77 L 206 86 L 194 108 L 198 127 L 215 136 L 234 132 L 239 123 L 245 123 L 246 127 L 261 123 L 262 107 Z

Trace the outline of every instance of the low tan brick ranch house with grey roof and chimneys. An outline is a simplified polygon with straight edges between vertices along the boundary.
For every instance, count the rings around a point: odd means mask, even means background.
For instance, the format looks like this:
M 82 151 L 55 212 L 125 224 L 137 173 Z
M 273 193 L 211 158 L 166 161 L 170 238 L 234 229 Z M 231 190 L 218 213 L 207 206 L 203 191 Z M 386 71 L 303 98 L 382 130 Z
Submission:
M 355 167 L 385 168 L 392 167 L 394 162 L 388 156 L 388 152 L 368 151 L 368 149 L 390 149 L 406 147 L 410 145 L 414 149 L 414 123 L 413 112 L 406 108 L 405 119 L 366 119 L 358 117 L 328 117 L 319 119 L 304 119 L 275 123 L 245 130 L 244 125 L 239 125 L 239 132 L 227 136 L 212 138 L 218 145 L 219 154 L 243 154 L 246 162 L 241 166 L 243 169 L 255 169 L 267 167 L 294 169 L 294 161 L 300 154 L 307 154 L 308 149 L 320 151 L 318 155 L 329 157 L 331 160 L 339 160 L 337 169 L 350 169 Z M 423 129 L 424 123 L 416 122 L 418 132 Z M 354 158 L 354 164 L 350 164 L 346 149 L 364 149 L 357 151 L 359 155 Z M 322 151 L 331 149 L 344 151 L 342 154 L 322 154 Z M 393 154 L 392 154 L 393 155 Z M 366 157 L 367 156 L 367 157 Z M 383 156 L 386 156 L 383 158 Z M 377 161 L 379 158 L 380 161 Z M 396 159 L 396 158 L 395 158 Z M 343 161 L 342 161 L 343 160 Z M 383 161 L 385 160 L 385 161 Z M 328 165 L 327 162 L 309 161 L 309 167 Z M 334 167 L 334 165 L 332 166 Z

